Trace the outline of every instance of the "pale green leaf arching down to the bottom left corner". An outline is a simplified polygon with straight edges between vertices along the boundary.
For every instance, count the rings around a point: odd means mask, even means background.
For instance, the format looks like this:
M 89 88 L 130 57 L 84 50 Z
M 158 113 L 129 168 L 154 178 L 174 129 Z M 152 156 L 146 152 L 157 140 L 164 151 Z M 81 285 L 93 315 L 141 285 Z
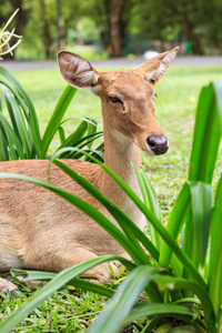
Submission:
M 37 306 L 39 306 L 44 300 L 47 300 L 54 291 L 67 284 L 73 278 L 80 275 L 84 271 L 88 271 L 95 265 L 111 260 L 122 260 L 115 255 L 103 255 L 101 258 L 91 259 L 87 262 L 80 263 L 73 268 L 69 268 L 56 275 L 47 285 L 44 285 L 38 293 L 32 295 L 27 302 L 21 304 L 19 309 L 9 315 L 1 324 L 0 332 L 9 333 L 19 324 L 26 316 L 28 316 Z

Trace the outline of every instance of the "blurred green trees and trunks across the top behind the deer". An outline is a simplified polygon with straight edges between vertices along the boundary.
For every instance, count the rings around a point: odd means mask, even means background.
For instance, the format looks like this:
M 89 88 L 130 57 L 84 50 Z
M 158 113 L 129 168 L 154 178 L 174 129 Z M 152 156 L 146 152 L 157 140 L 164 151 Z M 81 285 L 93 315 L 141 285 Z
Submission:
M 0 0 L 0 27 L 17 8 L 18 60 L 54 59 L 61 49 L 90 60 L 131 59 L 174 46 L 184 54 L 222 54 L 221 0 Z

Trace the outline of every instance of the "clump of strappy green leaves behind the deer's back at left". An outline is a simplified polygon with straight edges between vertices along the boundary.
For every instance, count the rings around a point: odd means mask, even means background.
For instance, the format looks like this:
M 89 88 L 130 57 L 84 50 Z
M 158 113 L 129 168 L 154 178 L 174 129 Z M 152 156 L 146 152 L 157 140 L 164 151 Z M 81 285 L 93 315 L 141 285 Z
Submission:
M 63 129 L 64 113 L 77 89 L 68 85 L 60 97 L 54 112 L 41 138 L 34 105 L 19 81 L 3 67 L 0 67 L 0 160 L 46 159 L 56 133 L 59 132 L 60 148 L 78 147 L 91 151 L 92 142 L 102 135 L 97 132 L 97 122 L 82 120 L 78 129 L 69 137 Z M 100 144 L 93 155 L 103 160 L 103 145 Z M 81 158 L 82 153 L 65 153 L 63 158 Z

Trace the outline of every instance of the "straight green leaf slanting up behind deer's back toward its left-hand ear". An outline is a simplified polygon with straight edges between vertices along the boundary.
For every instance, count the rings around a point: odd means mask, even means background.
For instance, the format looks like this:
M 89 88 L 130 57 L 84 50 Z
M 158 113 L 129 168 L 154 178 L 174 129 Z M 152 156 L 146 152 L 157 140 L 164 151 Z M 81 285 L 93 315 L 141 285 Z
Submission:
M 58 131 L 61 120 L 77 92 L 77 89 L 68 85 L 62 93 L 62 95 L 59 99 L 59 102 L 54 109 L 54 112 L 47 125 L 47 129 L 44 131 L 43 138 L 42 138 L 42 151 L 40 154 L 40 159 L 44 158 L 48 151 L 48 148 L 51 143 L 52 138 L 54 137 L 56 132 Z

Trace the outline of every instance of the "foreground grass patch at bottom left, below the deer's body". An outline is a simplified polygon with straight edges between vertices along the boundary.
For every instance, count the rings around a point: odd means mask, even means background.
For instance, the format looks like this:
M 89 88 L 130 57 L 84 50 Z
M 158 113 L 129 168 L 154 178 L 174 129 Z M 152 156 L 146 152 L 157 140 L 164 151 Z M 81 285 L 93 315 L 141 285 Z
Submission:
M 26 289 L 21 299 L 12 299 L 9 293 L 1 293 L 0 311 L 2 314 L 0 317 L 4 319 L 11 314 L 31 293 L 33 293 L 31 290 Z M 67 333 L 85 331 L 85 327 L 99 314 L 105 302 L 105 297 L 91 292 L 63 287 L 36 309 L 12 332 Z

